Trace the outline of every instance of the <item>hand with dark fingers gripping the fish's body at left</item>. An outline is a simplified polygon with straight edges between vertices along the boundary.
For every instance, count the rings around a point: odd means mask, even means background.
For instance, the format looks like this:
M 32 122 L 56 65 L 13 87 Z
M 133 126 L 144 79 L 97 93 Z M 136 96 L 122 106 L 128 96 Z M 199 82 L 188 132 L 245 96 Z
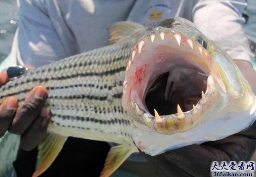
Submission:
M 0 73 L 0 86 L 9 80 L 6 71 Z M 20 146 L 24 150 L 34 149 L 50 121 L 50 110 L 43 106 L 46 98 L 47 89 L 43 86 L 32 89 L 21 105 L 15 96 L 5 98 L 0 105 L 0 137 L 8 130 L 21 135 Z

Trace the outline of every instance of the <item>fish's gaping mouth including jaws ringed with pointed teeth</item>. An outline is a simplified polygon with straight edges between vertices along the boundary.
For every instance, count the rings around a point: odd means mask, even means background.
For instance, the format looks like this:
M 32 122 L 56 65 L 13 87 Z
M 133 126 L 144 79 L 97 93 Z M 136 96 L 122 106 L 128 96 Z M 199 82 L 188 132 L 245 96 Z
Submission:
M 203 121 L 220 92 L 227 92 L 208 50 L 206 40 L 170 28 L 157 27 L 142 37 L 124 81 L 123 107 L 132 122 L 169 135 Z

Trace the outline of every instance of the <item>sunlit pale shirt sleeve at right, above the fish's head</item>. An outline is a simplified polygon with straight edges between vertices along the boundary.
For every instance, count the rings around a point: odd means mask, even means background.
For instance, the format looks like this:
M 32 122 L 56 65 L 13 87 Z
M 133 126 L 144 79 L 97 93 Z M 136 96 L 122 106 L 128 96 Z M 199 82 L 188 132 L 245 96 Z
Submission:
M 253 55 L 243 28 L 245 19 L 242 17 L 246 5 L 242 0 L 200 0 L 193 8 L 193 22 L 233 60 L 251 62 Z

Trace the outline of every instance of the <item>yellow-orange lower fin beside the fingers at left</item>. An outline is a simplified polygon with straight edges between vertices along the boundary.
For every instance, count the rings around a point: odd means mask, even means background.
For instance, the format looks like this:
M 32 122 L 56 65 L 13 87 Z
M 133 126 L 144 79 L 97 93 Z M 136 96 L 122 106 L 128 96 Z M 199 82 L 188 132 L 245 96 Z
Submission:
M 37 177 L 46 171 L 60 153 L 68 137 L 47 133 L 38 145 L 36 171 L 32 177 Z

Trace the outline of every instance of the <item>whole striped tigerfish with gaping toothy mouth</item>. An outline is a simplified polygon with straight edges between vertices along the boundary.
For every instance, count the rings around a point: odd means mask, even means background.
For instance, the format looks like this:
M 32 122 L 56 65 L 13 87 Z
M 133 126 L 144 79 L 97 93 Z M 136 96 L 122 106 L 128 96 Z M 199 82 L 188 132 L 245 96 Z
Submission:
M 117 22 L 109 31 L 111 45 L 1 87 L 1 99 L 15 95 L 19 104 L 35 86 L 48 90 L 52 119 L 33 177 L 51 165 L 69 136 L 117 143 L 101 173 L 110 176 L 138 149 L 154 156 L 222 139 L 254 122 L 255 95 L 246 79 L 192 22 L 176 17 L 153 29 Z M 9 152 L 4 148 L 0 155 Z

